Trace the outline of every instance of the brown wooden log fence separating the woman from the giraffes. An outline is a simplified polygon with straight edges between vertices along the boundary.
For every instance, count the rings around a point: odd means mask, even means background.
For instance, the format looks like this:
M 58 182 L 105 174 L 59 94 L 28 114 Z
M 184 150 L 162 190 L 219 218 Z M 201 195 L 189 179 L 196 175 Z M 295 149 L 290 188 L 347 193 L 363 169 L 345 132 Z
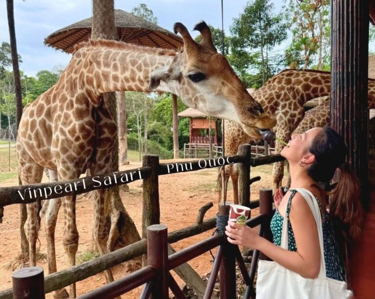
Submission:
M 89 262 L 84 262 L 80 265 L 73 266 L 45 277 L 41 280 L 40 273 L 37 272 L 37 280 L 33 280 L 33 276 L 25 275 L 23 272 L 29 268 L 24 268 L 19 271 L 19 276 L 16 272 L 13 275 L 13 289 L 8 289 L 0 292 L 0 299 L 5 298 L 21 298 L 17 294 L 24 294 L 24 288 L 36 289 L 35 294 L 49 293 L 57 289 L 61 289 L 70 285 L 73 282 L 84 280 L 99 272 L 109 269 L 122 262 L 129 261 L 137 256 L 147 253 L 148 265 L 141 270 L 138 270 L 120 280 L 106 284 L 98 288 L 82 298 L 115 298 L 125 292 L 144 284 L 144 289 L 141 298 L 148 298 L 150 294 L 153 298 L 167 298 L 168 286 L 175 294 L 176 298 L 185 298 L 182 291 L 174 281 L 169 271 L 180 267 L 189 260 L 207 252 L 208 250 L 218 246 L 217 255 L 213 265 L 213 269 L 208 280 L 208 285 L 204 291 L 203 298 L 211 298 L 212 290 L 216 277 L 220 269 L 220 293 L 221 298 L 235 298 L 235 262 L 237 261 L 239 269 L 247 284 L 247 291 L 245 298 L 255 298 L 255 291 L 252 283 L 255 276 L 256 263 L 258 260 L 259 252 L 253 252 L 250 274 L 247 272 L 242 256 L 238 246 L 231 245 L 226 241 L 226 238 L 215 234 L 214 236 L 204 240 L 200 243 L 194 244 L 180 252 L 173 253 L 167 256 L 167 243 L 174 243 L 182 239 L 200 234 L 204 231 L 212 229 L 216 226 L 216 218 L 211 218 L 203 221 L 204 213 L 208 209 L 206 205 L 198 212 L 197 221 L 189 227 L 167 233 L 167 227 L 159 224 L 155 215 L 160 215 L 159 206 L 159 186 L 158 176 L 173 174 L 183 171 L 195 171 L 204 168 L 213 168 L 222 165 L 233 163 L 240 163 L 239 165 L 239 203 L 240 205 L 255 208 L 260 206 L 260 214 L 247 221 L 250 227 L 260 226 L 258 232 L 264 237 L 271 240 L 270 221 L 272 215 L 272 191 L 271 189 L 260 190 L 260 200 L 250 203 L 250 166 L 260 166 L 284 160 L 280 155 L 264 156 L 259 158 L 251 158 L 250 145 L 241 145 L 238 155 L 220 157 L 217 159 L 201 159 L 199 161 L 192 161 L 187 163 L 175 164 L 159 164 L 158 156 L 144 156 L 143 167 L 138 169 L 131 169 L 126 171 L 119 171 L 116 173 L 118 178 L 130 178 L 126 181 L 118 179 L 116 185 L 122 185 L 143 179 L 143 206 L 144 213 L 142 219 L 142 237 L 141 241 L 125 246 L 124 248 L 110 252 L 97 259 Z M 184 165 L 185 164 L 185 168 Z M 180 167 L 182 166 L 182 167 Z M 55 182 L 45 184 L 35 184 L 28 186 L 16 187 L 3 187 L 0 188 L 0 213 L 2 217 L 2 210 L 4 206 L 12 204 L 26 204 L 36 202 L 38 200 L 49 200 L 52 198 L 62 197 L 65 195 L 81 194 L 99 188 L 107 188 L 113 185 L 104 186 L 101 184 L 99 187 L 95 186 L 95 182 L 104 181 L 107 176 L 114 176 L 115 173 L 101 175 L 92 180 L 92 177 L 85 177 L 66 182 Z M 83 181 L 85 182 L 83 184 Z M 114 180 L 113 180 L 114 181 Z M 79 184 L 81 182 L 81 184 Z M 60 190 L 59 194 L 52 192 L 48 196 L 46 190 L 55 190 L 56 186 L 65 184 L 74 184 L 77 188 L 74 191 L 67 192 Z M 30 189 L 29 189 L 30 188 Z M 30 192 L 31 190 L 31 192 Z M 37 190 L 33 192 L 34 190 Z M 27 192 L 26 192 L 27 191 Z M 20 194 L 24 195 L 21 199 Z M 35 195 L 35 196 L 34 196 Z M 228 214 L 229 203 L 227 205 L 220 204 L 220 214 Z M 147 212 L 146 212 L 147 211 Z M 262 258 L 267 258 L 261 256 Z M 29 272 L 28 272 L 29 273 Z M 30 274 L 30 273 L 29 273 Z M 32 281 L 32 282 L 30 282 Z M 39 282 L 37 282 L 39 281 Z M 40 289 L 43 289 L 42 291 Z M 39 293 L 38 293 L 39 292 Z M 105 297 L 104 295 L 105 294 Z M 15 296 L 15 297 L 13 297 Z M 24 298 L 24 297 L 22 297 Z M 38 295 L 29 298 L 44 298 Z

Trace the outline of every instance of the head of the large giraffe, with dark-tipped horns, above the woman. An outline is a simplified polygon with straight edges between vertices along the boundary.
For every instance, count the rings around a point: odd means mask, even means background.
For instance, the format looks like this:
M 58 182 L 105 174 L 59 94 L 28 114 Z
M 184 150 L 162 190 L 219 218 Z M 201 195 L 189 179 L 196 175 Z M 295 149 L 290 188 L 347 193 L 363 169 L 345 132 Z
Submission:
M 183 24 L 174 24 L 174 32 L 182 36 L 184 47 L 170 65 L 150 74 L 149 90 L 176 84 L 183 101 L 198 111 L 240 123 L 245 131 L 274 127 L 276 119 L 263 111 L 225 56 L 217 53 L 207 24 L 202 21 L 194 30 L 202 35 L 200 43 L 193 40 Z

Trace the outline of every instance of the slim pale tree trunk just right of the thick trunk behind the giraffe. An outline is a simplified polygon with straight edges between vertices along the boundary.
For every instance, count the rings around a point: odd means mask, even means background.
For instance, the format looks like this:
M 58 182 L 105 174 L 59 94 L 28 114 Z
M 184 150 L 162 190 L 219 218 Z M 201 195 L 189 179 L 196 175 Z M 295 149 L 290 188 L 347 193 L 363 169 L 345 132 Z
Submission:
M 120 165 L 127 165 L 126 95 L 117 92 Z

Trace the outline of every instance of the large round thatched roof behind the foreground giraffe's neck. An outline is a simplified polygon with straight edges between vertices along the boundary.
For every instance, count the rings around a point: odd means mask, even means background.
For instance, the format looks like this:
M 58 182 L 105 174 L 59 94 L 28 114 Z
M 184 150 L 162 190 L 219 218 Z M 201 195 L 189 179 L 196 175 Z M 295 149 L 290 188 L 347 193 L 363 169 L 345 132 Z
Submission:
M 44 44 L 72 53 L 74 45 L 91 37 L 92 18 L 83 19 L 55 31 L 44 38 Z M 182 38 L 174 33 L 121 9 L 115 9 L 115 25 L 119 39 L 148 47 L 177 49 Z

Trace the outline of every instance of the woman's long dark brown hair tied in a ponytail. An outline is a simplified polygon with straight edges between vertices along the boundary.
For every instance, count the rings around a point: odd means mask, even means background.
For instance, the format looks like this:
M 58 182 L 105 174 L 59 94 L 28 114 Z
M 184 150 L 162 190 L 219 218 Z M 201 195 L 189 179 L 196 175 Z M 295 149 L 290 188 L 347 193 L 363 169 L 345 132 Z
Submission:
M 310 147 L 315 162 L 308 174 L 315 182 L 329 182 L 337 168 L 340 175 L 336 187 L 330 192 L 330 218 L 336 239 L 343 254 L 358 240 L 362 231 L 363 207 L 360 203 L 360 182 L 354 171 L 345 163 L 346 146 L 342 137 L 326 126 L 315 136 Z M 346 257 L 347 258 L 347 257 Z

